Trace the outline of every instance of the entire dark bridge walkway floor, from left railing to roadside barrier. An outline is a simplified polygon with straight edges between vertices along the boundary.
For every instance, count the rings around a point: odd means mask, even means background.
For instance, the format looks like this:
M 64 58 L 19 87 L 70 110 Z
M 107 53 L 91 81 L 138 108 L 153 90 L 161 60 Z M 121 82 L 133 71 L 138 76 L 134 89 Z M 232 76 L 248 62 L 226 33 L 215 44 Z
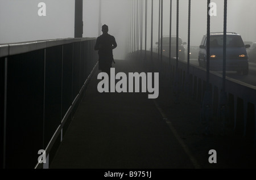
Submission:
M 117 72 L 136 72 L 133 61 L 116 61 Z M 86 89 L 75 118 L 49 168 L 246 168 L 245 143 L 214 131 L 203 134 L 199 102 L 180 96 L 174 104 L 170 87 L 160 80 L 156 103 L 148 93 L 99 93 L 98 70 Z M 159 111 L 160 110 L 160 111 Z M 162 110 L 162 112 L 161 112 Z M 164 117 L 168 121 L 164 121 Z M 212 128 L 218 124 L 212 124 Z M 239 144 L 240 143 L 240 144 Z M 209 164 L 208 151 L 217 151 Z M 234 149 L 234 151 L 232 151 Z M 238 156 L 236 153 L 239 153 Z M 51 156 L 51 155 L 50 155 Z M 236 157 L 236 159 L 233 159 Z

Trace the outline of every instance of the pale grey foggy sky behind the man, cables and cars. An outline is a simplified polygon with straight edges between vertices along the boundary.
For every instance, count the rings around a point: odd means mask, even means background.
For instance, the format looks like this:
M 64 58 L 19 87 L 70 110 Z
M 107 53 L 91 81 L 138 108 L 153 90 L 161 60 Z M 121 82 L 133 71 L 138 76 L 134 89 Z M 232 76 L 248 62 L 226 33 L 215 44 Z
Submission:
M 46 16 L 38 15 L 39 2 L 46 3 Z M 83 37 L 98 36 L 99 2 L 99 0 L 83 1 Z M 109 34 L 115 37 L 118 45 L 113 50 L 115 59 L 124 59 L 128 50 L 131 2 L 132 0 L 102 0 L 101 23 L 109 26 Z M 187 42 L 188 0 L 179 2 L 179 36 Z M 223 32 L 224 1 L 212 0 L 212 2 L 217 4 L 217 16 L 210 18 L 210 31 Z M 155 42 L 158 41 L 159 0 L 153 0 L 153 3 L 153 46 L 155 46 Z M 149 50 L 151 0 L 148 0 L 147 6 L 147 50 Z M 239 33 L 243 41 L 256 42 L 255 8 L 255 0 L 228 0 L 227 31 Z M 143 9 L 143 16 L 144 13 Z M 74 37 L 74 22 L 75 0 L 1 0 L 0 44 Z M 163 0 L 164 36 L 169 35 L 169 27 L 170 0 Z M 144 28 L 143 19 L 143 48 Z M 191 45 L 199 45 L 205 33 L 207 33 L 207 1 L 192 0 Z M 176 35 L 176 0 L 172 0 L 172 35 Z

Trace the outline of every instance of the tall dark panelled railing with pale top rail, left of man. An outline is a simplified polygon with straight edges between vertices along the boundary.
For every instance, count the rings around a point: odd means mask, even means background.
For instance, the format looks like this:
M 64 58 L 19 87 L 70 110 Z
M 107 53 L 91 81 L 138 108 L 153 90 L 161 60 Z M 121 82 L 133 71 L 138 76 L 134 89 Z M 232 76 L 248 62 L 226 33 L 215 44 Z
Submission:
M 95 41 L 65 38 L 0 45 L 3 168 L 49 165 L 96 68 Z M 38 163 L 40 149 L 46 151 L 44 165 Z

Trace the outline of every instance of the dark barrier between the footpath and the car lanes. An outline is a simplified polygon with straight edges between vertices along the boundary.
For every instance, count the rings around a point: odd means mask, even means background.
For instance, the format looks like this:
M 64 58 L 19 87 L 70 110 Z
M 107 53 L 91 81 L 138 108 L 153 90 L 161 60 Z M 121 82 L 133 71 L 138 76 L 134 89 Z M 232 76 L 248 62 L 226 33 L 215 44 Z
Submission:
M 170 78 L 171 83 L 174 84 L 176 59 L 163 56 L 163 64 L 158 59 L 158 53 L 152 54 L 146 52 L 147 58 L 141 57 L 140 51 L 130 53 L 133 58 L 139 60 L 144 59 L 144 67 L 150 68 L 153 71 L 159 72 L 163 78 Z M 146 60 L 146 61 L 145 61 Z M 153 66 L 151 66 L 153 63 Z M 179 90 L 189 95 L 193 100 L 202 102 L 204 92 L 207 86 L 206 69 L 189 65 L 189 85 L 186 83 L 187 76 L 187 62 L 178 61 L 179 72 Z M 210 71 L 210 89 L 212 92 L 212 117 L 217 121 L 220 119 L 220 94 L 222 88 L 222 75 L 217 72 Z M 233 128 L 236 135 L 244 136 L 246 139 L 256 142 L 256 87 L 254 85 L 240 82 L 239 80 L 226 77 L 226 93 L 228 94 L 228 111 L 226 123 Z M 213 121 L 214 121 L 213 119 Z M 220 127 L 222 128 L 222 127 Z

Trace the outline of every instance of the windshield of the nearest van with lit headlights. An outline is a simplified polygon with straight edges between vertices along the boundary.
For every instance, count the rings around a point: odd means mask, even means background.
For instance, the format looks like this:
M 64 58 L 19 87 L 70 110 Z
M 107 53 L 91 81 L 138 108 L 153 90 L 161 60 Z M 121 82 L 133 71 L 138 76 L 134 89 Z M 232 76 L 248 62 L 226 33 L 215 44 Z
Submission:
M 223 46 L 223 35 L 210 36 L 210 47 L 218 48 Z M 244 47 L 241 36 L 226 36 L 226 46 L 229 48 Z

